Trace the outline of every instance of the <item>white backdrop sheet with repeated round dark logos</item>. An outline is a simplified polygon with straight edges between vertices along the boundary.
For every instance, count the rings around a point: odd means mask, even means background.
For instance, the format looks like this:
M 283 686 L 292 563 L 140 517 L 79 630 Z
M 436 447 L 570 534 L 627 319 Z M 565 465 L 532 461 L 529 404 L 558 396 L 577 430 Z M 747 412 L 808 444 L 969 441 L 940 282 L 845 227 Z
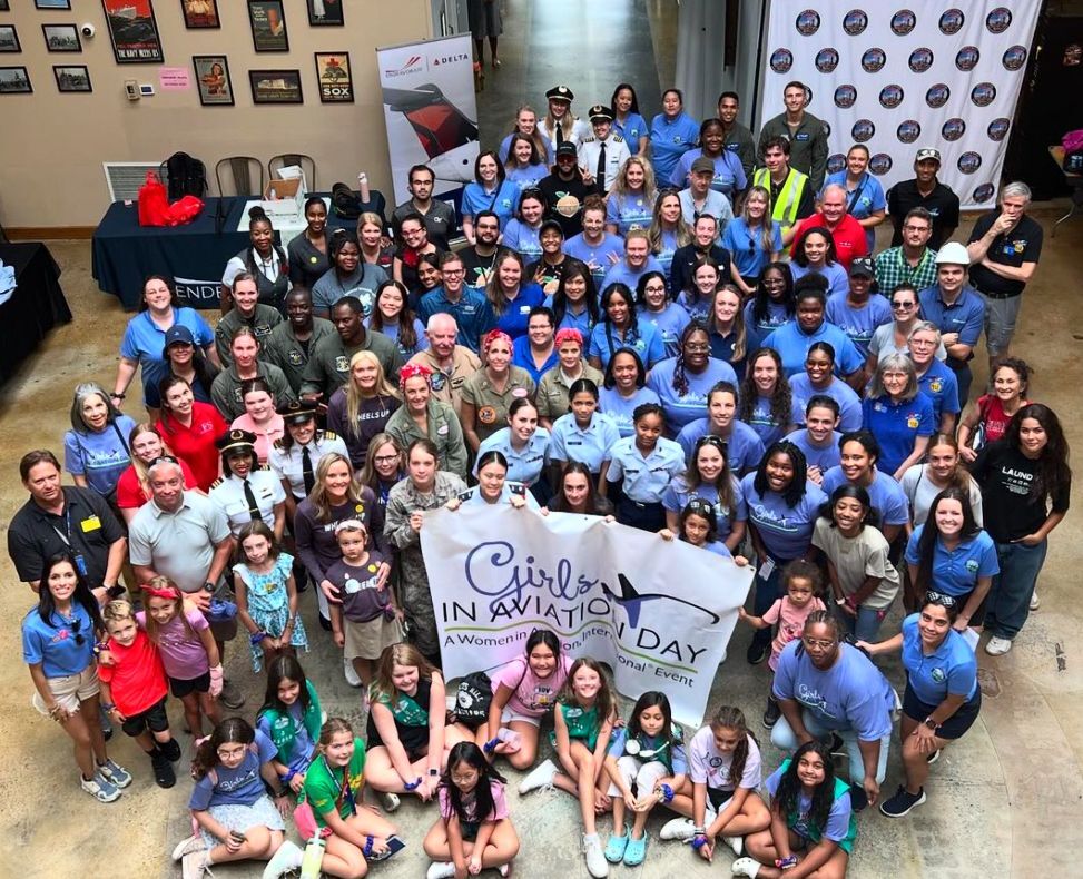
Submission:
M 774 0 L 760 119 L 800 80 L 828 126 L 828 174 L 864 144 L 887 191 L 923 146 L 965 209 L 995 204 L 1041 3 Z

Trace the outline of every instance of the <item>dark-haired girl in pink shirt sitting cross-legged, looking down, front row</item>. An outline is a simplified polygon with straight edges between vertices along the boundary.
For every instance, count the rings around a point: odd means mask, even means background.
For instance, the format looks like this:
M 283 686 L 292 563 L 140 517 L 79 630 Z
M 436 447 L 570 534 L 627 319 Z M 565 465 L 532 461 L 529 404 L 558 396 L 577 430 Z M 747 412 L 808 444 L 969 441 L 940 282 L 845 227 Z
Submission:
M 440 818 L 425 837 L 425 853 L 433 859 L 426 879 L 511 872 L 519 836 L 508 817 L 504 783 L 474 742 L 451 749 L 437 790 Z

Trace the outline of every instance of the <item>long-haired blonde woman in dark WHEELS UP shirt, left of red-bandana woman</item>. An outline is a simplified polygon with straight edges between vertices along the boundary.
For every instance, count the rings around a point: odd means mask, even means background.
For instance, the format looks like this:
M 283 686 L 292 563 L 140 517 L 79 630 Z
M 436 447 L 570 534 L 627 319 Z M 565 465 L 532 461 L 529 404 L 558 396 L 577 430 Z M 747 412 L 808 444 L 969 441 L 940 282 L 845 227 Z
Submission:
M 380 358 L 371 350 L 356 352 L 349 358 L 349 378 L 327 403 L 327 427 L 345 441 L 353 466 L 364 465 L 368 441 L 401 405 Z

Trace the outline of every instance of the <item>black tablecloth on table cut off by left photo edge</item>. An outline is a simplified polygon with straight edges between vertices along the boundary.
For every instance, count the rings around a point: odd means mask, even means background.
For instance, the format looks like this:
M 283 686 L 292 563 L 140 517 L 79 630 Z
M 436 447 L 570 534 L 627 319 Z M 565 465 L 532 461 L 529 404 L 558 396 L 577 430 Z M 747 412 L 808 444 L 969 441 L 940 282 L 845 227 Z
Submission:
M 0 259 L 14 268 L 18 285 L 0 305 L 0 381 L 7 381 L 50 329 L 71 320 L 71 309 L 60 266 L 43 244 L 0 245 Z

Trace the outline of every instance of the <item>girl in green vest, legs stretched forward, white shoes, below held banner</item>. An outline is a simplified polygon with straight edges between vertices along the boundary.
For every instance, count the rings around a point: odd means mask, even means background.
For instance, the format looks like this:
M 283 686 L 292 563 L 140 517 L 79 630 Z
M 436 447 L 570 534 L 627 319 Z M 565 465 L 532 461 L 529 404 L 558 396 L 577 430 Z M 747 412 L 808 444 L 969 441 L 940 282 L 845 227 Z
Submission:
M 555 787 L 579 798 L 587 870 L 599 879 L 609 876 L 609 865 L 598 839 L 594 816 L 609 811 L 611 806 L 603 770 L 609 737 L 617 720 L 617 694 L 595 660 L 582 656 L 572 663 L 557 708 L 553 739 L 560 769 L 552 760 L 542 761 L 522 780 L 519 792 Z

